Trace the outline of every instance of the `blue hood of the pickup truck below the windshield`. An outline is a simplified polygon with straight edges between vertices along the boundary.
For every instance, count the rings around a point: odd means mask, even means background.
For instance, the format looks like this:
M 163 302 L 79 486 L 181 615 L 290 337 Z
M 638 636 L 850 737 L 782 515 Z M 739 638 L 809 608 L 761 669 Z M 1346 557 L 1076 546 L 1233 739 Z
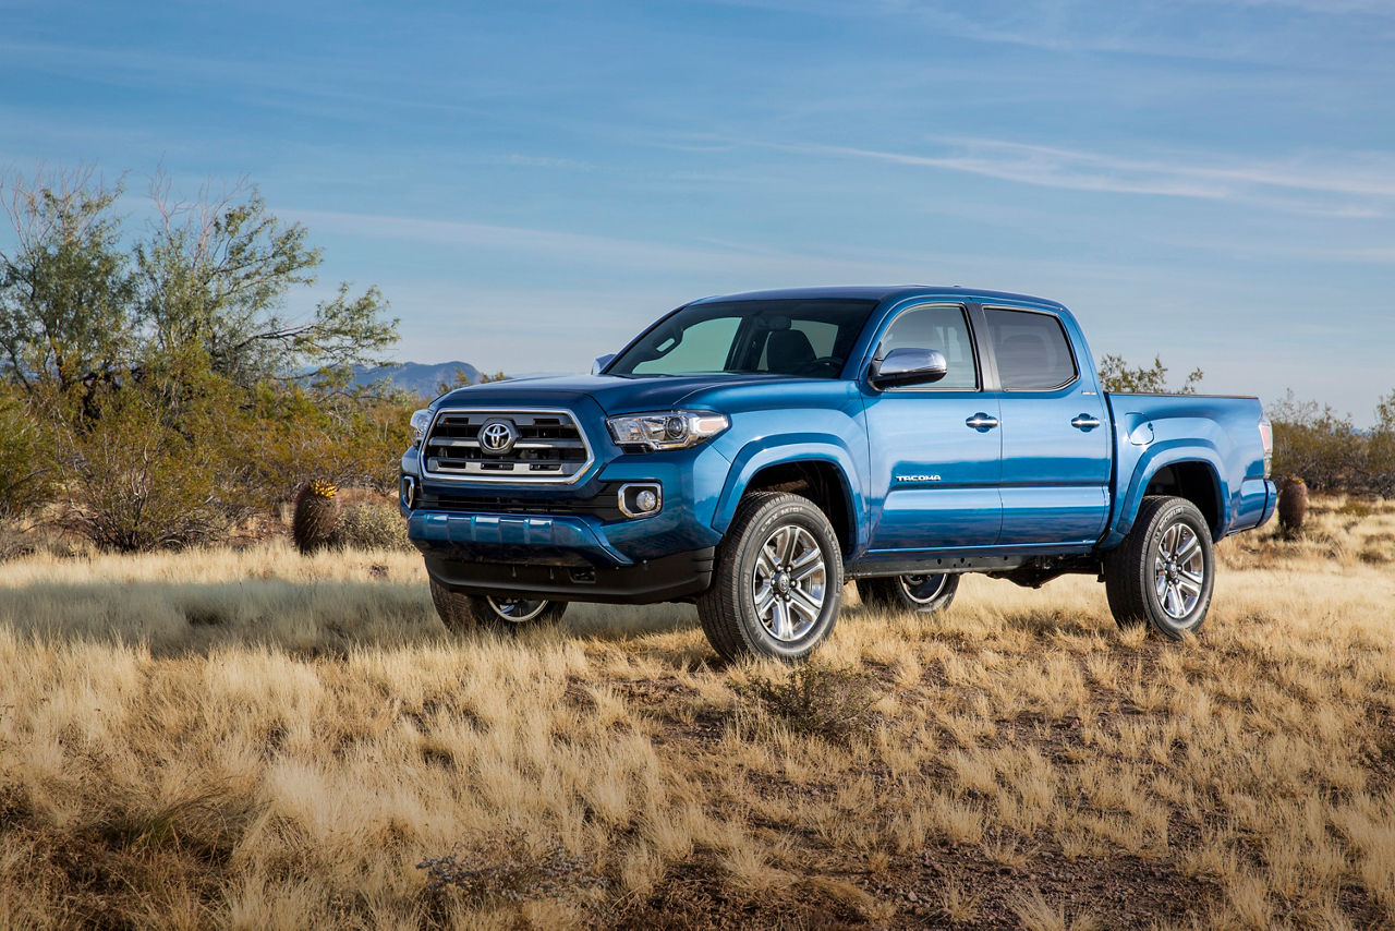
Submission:
M 618 375 L 554 375 L 545 378 L 515 378 L 483 385 L 458 388 L 441 403 L 469 405 L 562 405 L 564 398 L 586 395 L 605 413 L 639 413 L 670 410 L 684 399 L 710 389 L 749 384 L 788 381 L 781 375 L 678 375 L 622 378 Z

